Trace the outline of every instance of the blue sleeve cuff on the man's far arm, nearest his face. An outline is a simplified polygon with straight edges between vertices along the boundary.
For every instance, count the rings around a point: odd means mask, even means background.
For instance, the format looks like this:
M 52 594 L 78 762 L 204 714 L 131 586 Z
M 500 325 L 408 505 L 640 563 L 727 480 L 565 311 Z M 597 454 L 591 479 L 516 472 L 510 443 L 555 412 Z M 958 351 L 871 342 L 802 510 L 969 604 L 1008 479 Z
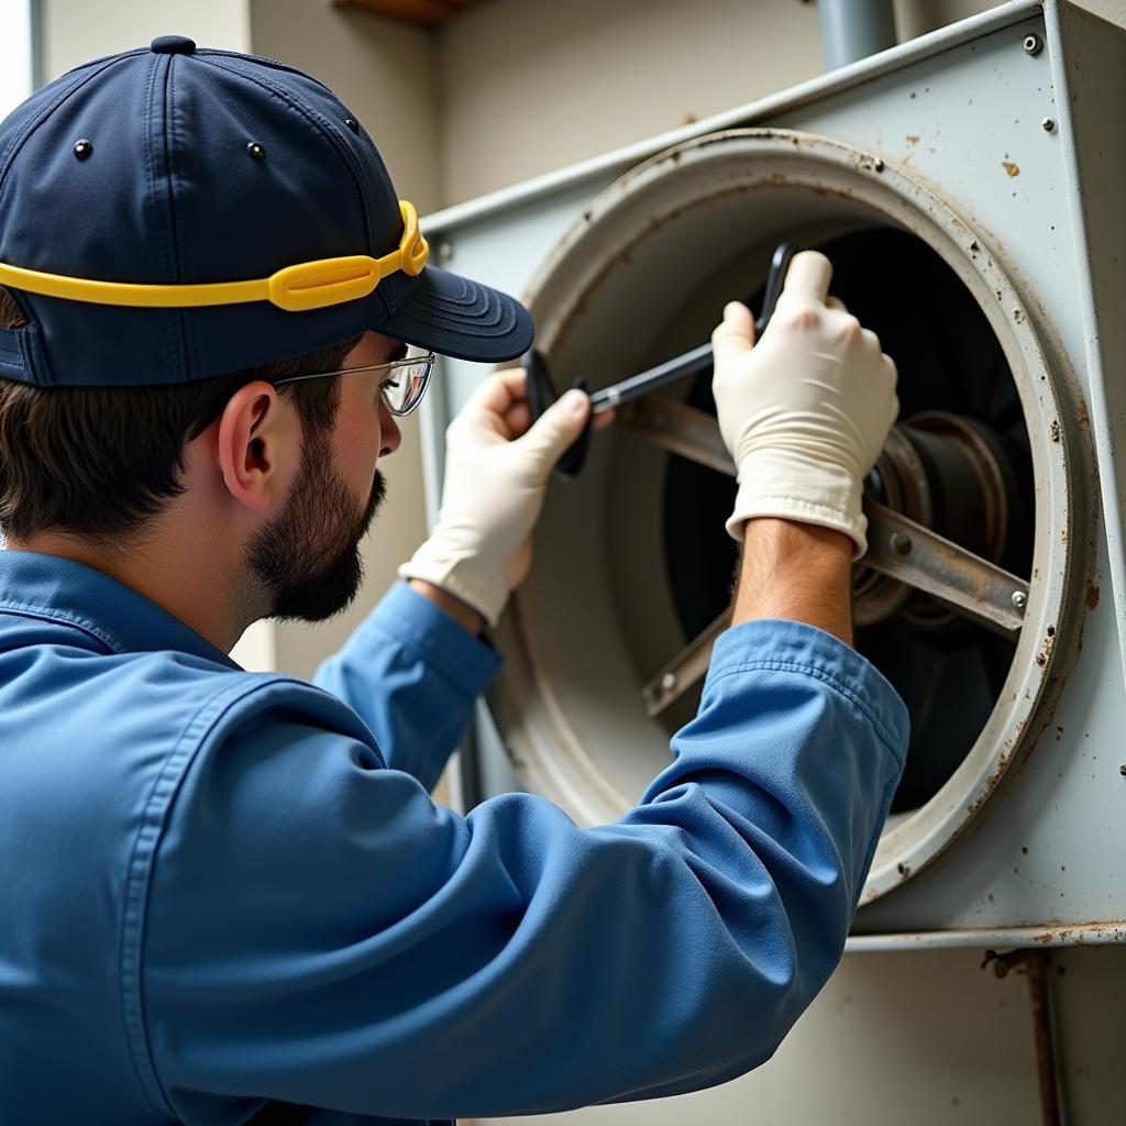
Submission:
M 368 620 L 419 652 L 468 696 L 480 696 L 500 669 L 497 650 L 467 633 L 405 582 L 396 582 L 383 596 Z

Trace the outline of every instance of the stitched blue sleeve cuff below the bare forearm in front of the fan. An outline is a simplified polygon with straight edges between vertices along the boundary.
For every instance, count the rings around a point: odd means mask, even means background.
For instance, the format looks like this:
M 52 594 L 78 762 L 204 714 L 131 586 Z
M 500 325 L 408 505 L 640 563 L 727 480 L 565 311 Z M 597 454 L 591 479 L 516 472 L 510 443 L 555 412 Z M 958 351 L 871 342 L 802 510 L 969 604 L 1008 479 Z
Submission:
M 753 669 L 788 670 L 830 685 L 868 716 L 902 765 L 910 733 L 906 706 L 884 674 L 850 645 L 802 622 L 743 622 L 716 638 L 704 699 L 723 691 L 724 677 Z

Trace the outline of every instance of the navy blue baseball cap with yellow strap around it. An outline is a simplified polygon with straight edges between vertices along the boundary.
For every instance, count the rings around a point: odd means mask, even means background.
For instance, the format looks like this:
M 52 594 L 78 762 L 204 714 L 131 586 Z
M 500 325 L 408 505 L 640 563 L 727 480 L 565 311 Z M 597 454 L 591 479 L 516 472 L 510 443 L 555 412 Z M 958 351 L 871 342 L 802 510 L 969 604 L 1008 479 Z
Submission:
M 0 123 L 0 377 L 185 383 L 368 329 L 526 351 L 513 298 L 427 262 L 370 136 L 315 79 L 182 36 L 100 59 Z

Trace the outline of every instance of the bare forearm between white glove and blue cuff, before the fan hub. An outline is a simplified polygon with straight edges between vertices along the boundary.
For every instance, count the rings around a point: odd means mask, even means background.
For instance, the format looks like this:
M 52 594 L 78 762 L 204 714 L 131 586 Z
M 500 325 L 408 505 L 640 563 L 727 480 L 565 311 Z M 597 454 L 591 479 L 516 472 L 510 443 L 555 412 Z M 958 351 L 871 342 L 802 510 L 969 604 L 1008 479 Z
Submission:
M 747 521 L 732 625 L 804 622 L 852 644 L 852 540 L 793 520 Z

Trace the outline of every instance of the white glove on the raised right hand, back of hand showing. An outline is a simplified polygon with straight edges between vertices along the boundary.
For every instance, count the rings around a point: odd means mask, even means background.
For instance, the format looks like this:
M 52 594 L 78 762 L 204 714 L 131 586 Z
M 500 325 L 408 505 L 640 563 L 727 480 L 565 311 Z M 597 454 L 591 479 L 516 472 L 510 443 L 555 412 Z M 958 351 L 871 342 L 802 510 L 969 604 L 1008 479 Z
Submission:
M 859 558 L 868 547 L 861 482 L 900 404 L 895 364 L 874 332 L 826 298 L 831 277 L 824 254 L 796 254 L 758 345 L 747 306 L 727 305 L 712 336 L 712 387 L 739 468 L 731 535 L 742 539 L 757 516 L 819 524 L 851 536 Z

